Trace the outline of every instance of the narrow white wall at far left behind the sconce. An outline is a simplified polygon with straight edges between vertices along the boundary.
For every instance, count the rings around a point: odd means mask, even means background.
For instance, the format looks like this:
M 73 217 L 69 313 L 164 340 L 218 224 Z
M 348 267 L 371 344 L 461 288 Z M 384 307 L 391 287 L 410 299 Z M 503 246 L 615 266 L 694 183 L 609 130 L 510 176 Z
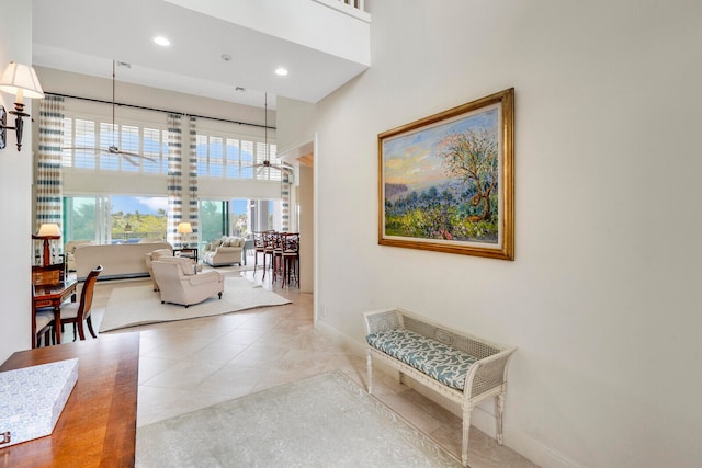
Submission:
M 0 73 L 8 62 L 32 64 L 32 2 L 0 0 Z M 0 92 L 0 105 L 14 109 L 14 95 Z M 26 101 L 30 113 L 31 101 Z M 8 116 L 14 126 L 14 116 Z M 0 230 L 3 274 L 0 281 L 0 363 L 15 351 L 31 347 L 32 335 L 32 122 L 24 119 L 22 151 L 18 152 L 14 130 L 8 130 L 8 146 L 0 149 Z

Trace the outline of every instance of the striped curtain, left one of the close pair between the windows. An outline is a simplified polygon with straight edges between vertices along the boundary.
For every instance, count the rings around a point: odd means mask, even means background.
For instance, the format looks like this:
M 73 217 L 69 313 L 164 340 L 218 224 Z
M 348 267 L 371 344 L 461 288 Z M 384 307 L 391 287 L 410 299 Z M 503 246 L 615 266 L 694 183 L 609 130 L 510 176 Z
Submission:
M 182 117 L 168 114 L 168 221 L 166 240 L 176 248 L 182 247 L 178 224 L 183 220 L 183 149 Z

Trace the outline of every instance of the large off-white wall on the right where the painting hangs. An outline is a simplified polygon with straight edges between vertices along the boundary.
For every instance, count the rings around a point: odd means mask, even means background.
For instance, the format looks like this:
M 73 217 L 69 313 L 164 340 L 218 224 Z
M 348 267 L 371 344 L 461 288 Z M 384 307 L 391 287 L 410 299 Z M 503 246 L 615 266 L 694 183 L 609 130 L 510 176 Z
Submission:
M 281 148 L 318 135 L 325 324 L 401 306 L 518 345 L 506 443 L 540 465 L 699 466 L 702 3 L 369 7 L 372 67 L 279 100 Z M 510 87 L 514 262 L 377 246 L 377 134 Z

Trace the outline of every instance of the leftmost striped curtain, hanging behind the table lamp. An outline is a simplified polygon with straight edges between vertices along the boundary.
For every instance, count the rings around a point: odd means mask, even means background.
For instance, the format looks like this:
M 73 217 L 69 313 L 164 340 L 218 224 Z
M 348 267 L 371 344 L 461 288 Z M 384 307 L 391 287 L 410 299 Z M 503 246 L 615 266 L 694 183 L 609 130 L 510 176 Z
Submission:
M 36 227 L 63 225 L 61 142 L 64 98 L 46 94 L 39 101 L 39 152 L 36 158 Z

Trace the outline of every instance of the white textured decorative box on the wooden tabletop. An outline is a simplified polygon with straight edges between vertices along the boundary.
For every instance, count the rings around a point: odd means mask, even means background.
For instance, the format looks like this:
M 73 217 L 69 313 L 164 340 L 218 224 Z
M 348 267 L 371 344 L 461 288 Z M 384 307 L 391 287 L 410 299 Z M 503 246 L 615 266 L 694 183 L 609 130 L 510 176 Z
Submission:
M 0 373 L 0 448 L 49 435 L 78 380 L 78 359 Z

